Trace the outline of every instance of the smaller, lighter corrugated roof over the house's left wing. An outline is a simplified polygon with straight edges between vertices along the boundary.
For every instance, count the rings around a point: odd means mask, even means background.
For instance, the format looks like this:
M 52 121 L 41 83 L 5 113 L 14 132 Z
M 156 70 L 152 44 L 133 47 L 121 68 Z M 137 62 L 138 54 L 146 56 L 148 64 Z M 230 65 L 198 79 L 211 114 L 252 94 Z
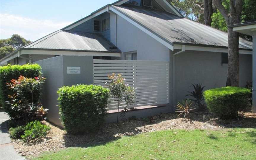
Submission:
M 58 30 L 23 48 L 121 52 L 100 34 L 63 30 Z

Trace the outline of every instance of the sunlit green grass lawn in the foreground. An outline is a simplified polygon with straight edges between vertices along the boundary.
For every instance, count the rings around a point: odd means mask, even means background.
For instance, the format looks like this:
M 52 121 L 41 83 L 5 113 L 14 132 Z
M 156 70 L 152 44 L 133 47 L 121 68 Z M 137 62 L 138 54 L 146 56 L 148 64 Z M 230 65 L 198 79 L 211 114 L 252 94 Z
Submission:
M 256 159 L 256 129 L 164 130 L 88 148 L 46 152 L 34 159 Z

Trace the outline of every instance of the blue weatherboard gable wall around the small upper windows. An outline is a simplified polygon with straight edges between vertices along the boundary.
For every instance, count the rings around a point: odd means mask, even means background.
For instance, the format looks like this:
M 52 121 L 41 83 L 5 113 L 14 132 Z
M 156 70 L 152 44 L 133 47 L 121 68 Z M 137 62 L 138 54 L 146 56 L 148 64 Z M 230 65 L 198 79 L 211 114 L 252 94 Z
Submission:
M 72 31 L 79 31 L 79 32 L 90 32 L 90 33 L 101 33 L 107 40 L 110 41 L 110 29 L 109 30 L 105 30 L 102 31 L 102 20 L 107 19 L 110 17 L 109 13 L 103 13 L 95 18 L 92 18 L 90 20 L 88 20 L 87 22 L 82 23 L 81 25 L 78 25 L 74 28 L 72 28 Z M 93 21 L 94 20 L 98 20 L 100 21 L 100 30 L 101 31 L 94 31 L 94 24 Z

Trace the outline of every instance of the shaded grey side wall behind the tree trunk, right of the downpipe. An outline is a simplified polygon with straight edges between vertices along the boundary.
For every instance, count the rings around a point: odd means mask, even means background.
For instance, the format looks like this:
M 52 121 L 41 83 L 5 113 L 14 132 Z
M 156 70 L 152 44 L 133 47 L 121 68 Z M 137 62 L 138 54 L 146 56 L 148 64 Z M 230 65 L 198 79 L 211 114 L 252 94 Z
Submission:
M 240 54 L 240 86 L 252 81 L 252 55 Z M 205 89 L 226 86 L 228 66 L 221 65 L 221 53 L 185 51 L 176 59 L 176 102 L 188 98 L 191 84 L 202 83 Z M 171 73 L 170 73 L 171 74 Z

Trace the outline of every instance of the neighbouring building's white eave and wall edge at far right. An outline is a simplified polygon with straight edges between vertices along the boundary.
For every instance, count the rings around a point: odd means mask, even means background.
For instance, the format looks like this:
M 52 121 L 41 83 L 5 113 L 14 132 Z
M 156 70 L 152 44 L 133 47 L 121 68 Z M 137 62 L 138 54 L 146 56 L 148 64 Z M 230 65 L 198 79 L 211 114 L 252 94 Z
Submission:
M 253 53 L 252 53 L 252 112 L 256 113 L 256 19 L 247 22 L 241 22 L 235 25 L 230 25 L 233 31 L 250 35 L 253 38 Z

